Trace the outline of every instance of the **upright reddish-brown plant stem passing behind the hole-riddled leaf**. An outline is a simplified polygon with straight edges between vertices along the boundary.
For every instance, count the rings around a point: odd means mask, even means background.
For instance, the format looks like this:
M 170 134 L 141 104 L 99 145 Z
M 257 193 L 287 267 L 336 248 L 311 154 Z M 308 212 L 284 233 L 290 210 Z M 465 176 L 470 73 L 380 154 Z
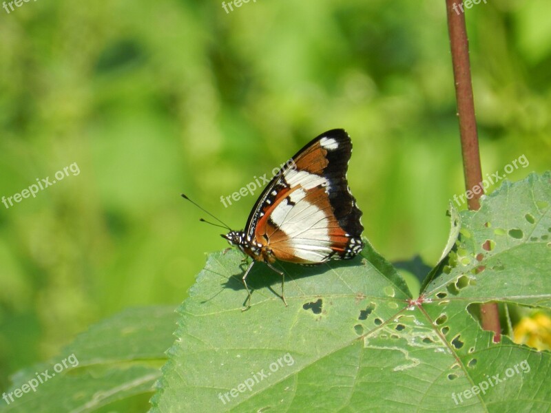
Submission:
M 465 187 L 471 192 L 468 198 L 468 208 L 480 208 L 480 197 L 484 193 L 482 171 L 478 146 L 477 120 L 475 117 L 475 102 L 472 98 L 472 81 L 470 78 L 469 45 L 465 25 L 464 8 L 458 8 L 457 0 L 446 0 L 448 14 L 448 32 L 452 52 L 453 77 L 455 79 L 455 96 L 457 99 L 457 116 L 459 117 L 459 134 L 461 136 L 461 153 L 463 154 L 463 169 Z M 459 3 L 461 4 L 461 3 Z M 455 8 L 454 8 L 455 6 Z M 478 186 L 480 191 L 472 191 Z M 494 332 L 494 341 L 501 341 L 501 326 L 497 303 L 487 303 L 480 306 L 482 328 Z

